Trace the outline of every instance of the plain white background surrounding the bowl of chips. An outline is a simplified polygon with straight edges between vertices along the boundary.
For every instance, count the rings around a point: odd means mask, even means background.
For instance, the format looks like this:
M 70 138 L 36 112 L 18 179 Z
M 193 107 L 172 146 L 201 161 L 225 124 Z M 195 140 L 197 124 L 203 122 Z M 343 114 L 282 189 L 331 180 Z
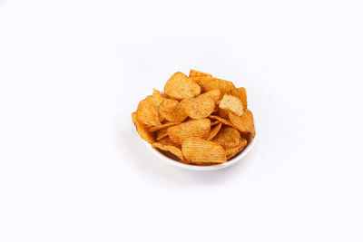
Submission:
M 0 241 L 363 241 L 359 2 L 0 0 Z M 235 167 L 134 131 L 191 68 L 247 88 Z

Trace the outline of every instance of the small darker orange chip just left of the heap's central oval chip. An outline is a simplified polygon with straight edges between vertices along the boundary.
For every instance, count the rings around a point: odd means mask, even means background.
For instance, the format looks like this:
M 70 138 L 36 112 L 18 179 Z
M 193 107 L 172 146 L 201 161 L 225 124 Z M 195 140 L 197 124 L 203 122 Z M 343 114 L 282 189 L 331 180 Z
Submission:
M 172 99 L 165 99 L 159 107 L 159 112 L 167 121 L 184 121 L 188 114 L 182 109 L 180 102 Z

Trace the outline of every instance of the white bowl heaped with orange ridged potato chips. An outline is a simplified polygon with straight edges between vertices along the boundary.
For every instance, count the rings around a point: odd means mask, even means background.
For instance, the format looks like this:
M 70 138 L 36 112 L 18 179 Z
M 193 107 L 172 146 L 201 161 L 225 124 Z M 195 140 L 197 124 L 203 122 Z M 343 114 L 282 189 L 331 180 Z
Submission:
M 256 139 L 247 94 L 208 73 L 174 73 L 163 93 L 153 90 L 132 112 L 147 147 L 185 169 L 212 170 L 242 160 Z

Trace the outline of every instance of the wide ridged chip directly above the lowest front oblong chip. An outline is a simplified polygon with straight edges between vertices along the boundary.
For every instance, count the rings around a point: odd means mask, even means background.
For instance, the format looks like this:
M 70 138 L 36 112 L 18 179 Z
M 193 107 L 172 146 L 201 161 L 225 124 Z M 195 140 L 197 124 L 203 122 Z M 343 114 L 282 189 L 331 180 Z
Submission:
M 176 144 L 182 144 L 188 138 L 207 139 L 211 131 L 209 119 L 185 121 L 181 124 L 168 128 L 168 136 Z

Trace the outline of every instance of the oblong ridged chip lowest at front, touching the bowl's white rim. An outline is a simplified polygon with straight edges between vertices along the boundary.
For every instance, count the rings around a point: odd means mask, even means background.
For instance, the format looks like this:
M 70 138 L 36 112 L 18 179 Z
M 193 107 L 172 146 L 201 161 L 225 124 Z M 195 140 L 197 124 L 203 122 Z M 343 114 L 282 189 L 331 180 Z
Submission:
M 226 152 L 221 145 L 200 138 L 188 138 L 182 142 L 182 154 L 186 160 L 196 162 L 223 163 Z

